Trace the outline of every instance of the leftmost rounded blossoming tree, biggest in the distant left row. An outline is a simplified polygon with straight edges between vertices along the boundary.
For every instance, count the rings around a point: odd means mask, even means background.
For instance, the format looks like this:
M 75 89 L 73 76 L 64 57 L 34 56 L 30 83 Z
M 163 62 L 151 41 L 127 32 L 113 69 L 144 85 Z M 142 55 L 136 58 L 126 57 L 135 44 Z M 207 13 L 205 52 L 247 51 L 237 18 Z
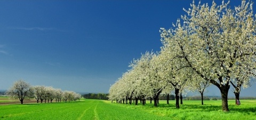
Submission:
M 23 104 L 23 100 L 33 97 L 34 91 L 29 83 L 20 79 L 13 83 L 9 90 L 6 91 L 6 94 L 11 98 L 19 98 L 21 104 Z

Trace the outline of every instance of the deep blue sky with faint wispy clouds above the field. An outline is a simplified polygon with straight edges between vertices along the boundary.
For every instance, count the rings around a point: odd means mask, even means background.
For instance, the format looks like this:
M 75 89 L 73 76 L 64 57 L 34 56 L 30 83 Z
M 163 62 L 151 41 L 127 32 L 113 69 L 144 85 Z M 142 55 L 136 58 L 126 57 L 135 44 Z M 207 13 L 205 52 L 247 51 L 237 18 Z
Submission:
M 207 2 L 212 3 L 201 1 Z M 0 90 L 23 79 L 31 85 L 107 93 L 134 58 L 160 51 L 159 28 L 171 28 L 190 3 L 0 1 Z M 209 95 L 220 94 L 209 90 Z M 250 91 L 256 85 L 243 91 L 255 96 Z

